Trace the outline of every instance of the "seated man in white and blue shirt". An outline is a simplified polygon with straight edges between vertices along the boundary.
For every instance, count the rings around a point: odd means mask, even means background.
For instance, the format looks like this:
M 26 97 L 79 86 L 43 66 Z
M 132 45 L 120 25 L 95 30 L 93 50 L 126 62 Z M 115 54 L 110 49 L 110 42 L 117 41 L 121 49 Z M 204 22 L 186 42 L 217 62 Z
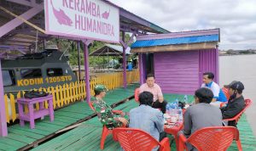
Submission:
M 214 75 L 212 72 L 206 72 L 203 74 L 203 84 L 201 87 L 207 87 L 212 90 L 214 97 L 212 98 L 212 104 L 216 104 L 219 107 L 220 103 L 226 102 L 227 98 L 224 92 L 217 83 L 213 81 Z

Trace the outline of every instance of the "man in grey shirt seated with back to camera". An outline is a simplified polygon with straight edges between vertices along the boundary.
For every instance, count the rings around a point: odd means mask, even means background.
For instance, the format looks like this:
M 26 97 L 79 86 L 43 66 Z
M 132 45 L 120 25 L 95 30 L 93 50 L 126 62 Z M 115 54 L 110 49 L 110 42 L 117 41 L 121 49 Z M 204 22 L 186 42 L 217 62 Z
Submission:
M 195 91 L 195 104 L 184 113 L 183 134 L 189 137 L 193 132 L 208 126 L 222 126 L 220 109 L 212 106 L 213 93 L 210 89 L 202 87 Z M 188 144 L 188 150 L 193 147 Z

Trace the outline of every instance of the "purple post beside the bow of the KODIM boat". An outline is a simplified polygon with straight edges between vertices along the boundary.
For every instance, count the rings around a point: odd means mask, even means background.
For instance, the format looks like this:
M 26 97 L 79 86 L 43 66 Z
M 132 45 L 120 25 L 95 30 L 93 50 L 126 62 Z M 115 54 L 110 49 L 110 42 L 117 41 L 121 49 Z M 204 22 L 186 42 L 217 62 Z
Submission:
M 86 101 L 90 102 L 90 73 L 89 73 L 89 50 L 88 45 L 84 42 L 84 71 L 85 71 L 85 91 L 86 91 Z

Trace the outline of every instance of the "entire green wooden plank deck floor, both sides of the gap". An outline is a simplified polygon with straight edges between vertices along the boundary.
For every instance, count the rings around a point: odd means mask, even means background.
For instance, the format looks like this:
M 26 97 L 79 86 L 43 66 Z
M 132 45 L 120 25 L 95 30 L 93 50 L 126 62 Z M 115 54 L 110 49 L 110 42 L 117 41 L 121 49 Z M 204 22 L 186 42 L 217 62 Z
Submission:
M 122 88 L 108 92 L 105 100 L 109 104 L 116 103 L 117 101 L 127 98 L 133 94 L 134 88 L 137 86 L 130 86 L 127 90 Z M 174 101 L 176 98 L 183 99 L 183 95 L 165 94 L 166 100 Z M 193 97 L 189 96 L 189 100 Z M 137 107 L 134 100 L 120 104 L 115 109 L 122 109 L 129 111 Z M 86 116 L 92 115 L 93 112 L 89 109 L 87 103 L 79 102 L 74 103 L 64 109 L 55 111 L 55 121 L 49 122 L 49 117 L 44 120 L 36 122 L 36 129 L 31 130 L 26 124 L 25 127 L 19 125 L 9 127 L 9 136 L 0 138 L 0 150 L 17 150 L 44 137 L 55 134 L 55 131 L 61 130 L 63 127 L 69 126 Z M 256 150 L 256 139 L 253 136 L 253 131 L 247 123 L 246 116 L 242 116 L 238 124 L 240 131 L 240 138 L 243 150 Z M 97 117 L 86 120 L 81 126 L 67 131 L 59 137 L 55 137 L 46 143 L 40 144 L 32 150 L 101 150 L 100 139 L 102 134 L 102 124 L 98 121 Z M 169 136 L 171 137 L 171 136 Z M 114 151 L 119 150 L 119 143 L 113 141 L 112 136 L 108 136 L 105 141 L 104 150 Z M 175 143 L 172 143 L 172 150 L 176 150 Z M 237 150 L 236 144 L 233 143 L 228 150 Z

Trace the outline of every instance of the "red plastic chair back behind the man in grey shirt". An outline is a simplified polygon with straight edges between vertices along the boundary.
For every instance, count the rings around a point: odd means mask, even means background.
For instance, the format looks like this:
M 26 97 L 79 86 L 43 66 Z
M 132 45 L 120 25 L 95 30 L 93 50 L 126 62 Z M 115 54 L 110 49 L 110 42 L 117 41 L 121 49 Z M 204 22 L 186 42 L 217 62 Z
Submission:
M 233 126 L 206 127 L 195 131 L 188 139 L 183 134 L 178 139 L 180 151 L 188 150 L 185 143 L 192 144 L 198 151 L 225 151 L 234 139 L 238 150 L 242 150 L 239 131 Z

